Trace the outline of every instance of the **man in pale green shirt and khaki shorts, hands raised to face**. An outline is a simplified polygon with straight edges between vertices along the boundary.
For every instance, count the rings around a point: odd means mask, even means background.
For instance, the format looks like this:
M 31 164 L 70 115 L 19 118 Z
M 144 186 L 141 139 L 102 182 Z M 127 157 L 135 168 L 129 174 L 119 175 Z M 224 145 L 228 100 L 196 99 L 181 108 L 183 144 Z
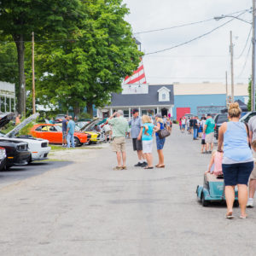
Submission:
M 115 117 L 115 118 L 113 118 Z M 118 110 L 108 119 L 108 124 L 112 126 L 113 142 L 112 149 L 116 153 L 118 165 L 113 168 L 114 171 L 127 170 L 126 167 L 126 150 L 125 150 L 125 137 L 129 131 L 129 125 L 124 118 L 124 112 Z M 122 165 L 123 161 L 123 165 Z

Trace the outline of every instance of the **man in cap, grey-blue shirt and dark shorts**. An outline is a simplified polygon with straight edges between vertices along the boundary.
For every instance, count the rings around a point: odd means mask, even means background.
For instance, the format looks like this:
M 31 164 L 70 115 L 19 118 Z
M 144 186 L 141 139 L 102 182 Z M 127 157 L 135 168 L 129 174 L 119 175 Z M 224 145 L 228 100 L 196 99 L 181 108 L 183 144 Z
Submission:
M 132 145 L 133 150 L 137 151 L 138 163 L 134 166 L 147 166 L 147 161 L 143 154 L 143 121 L 142 118 L 139 117 L 139 111 L 137 108 L 132 110 L 132 119 L 129 121 L 129 125 L 131 125 L 131 138 L 132 138 Z

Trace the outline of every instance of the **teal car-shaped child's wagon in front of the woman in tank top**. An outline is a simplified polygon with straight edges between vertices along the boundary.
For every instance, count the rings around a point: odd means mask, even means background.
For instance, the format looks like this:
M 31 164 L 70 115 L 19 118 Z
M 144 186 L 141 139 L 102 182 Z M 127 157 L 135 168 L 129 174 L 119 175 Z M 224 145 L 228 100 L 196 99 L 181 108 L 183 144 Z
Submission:
M 207 173 L 204 176 L 204 184 L 196 188 L 197 199 L 201 201 L 203 207 L 207 207 L 211 202 L 224 202 L 224 178 L 216 177 L 214 174 Z M 234 206 L 238 206 L 238 192 L 235 189 Z

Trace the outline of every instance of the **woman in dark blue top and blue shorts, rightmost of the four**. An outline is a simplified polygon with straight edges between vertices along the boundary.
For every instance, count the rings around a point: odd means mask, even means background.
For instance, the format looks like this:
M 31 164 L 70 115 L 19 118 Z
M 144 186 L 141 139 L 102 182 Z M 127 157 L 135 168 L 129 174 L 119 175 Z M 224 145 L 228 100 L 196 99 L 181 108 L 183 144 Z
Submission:
M 162 116 L 160 113 L 157 113 L 155 115 L 155 122 L 156 126 L 154 126 L 154 131 L 155 132 L 155 138 L 156 138 L 156 148 L 157 148 L 157 154 L 159 158 L 158 164 L 155 166 L 157 168 L 165 168 L 165 159 L 164 159 L 164 153 L 163 153 L 163 148 L 166 142 L 166 138 L 160 138 L 157 131 L 165 129 L 164 122 L 162 119 Z

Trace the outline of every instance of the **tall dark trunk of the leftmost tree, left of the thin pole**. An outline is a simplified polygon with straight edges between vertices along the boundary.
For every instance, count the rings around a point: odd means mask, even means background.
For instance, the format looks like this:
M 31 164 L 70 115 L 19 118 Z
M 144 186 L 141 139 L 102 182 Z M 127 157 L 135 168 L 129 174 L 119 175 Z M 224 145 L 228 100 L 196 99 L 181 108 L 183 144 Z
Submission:
M 18 53 L 19 66 L 19 96 L 18 96 L 18 113 L 26 116 L 26 79 L 24 71 L 24 55 L 25 44 L 23 35 L 14 36 L 15 44 Z

